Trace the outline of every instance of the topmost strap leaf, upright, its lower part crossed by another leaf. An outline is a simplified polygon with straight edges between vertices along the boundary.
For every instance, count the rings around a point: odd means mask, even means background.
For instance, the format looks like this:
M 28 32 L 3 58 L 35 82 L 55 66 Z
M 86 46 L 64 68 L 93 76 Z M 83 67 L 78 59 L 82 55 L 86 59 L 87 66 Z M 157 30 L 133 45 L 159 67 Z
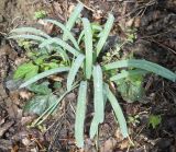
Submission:
M 76 20 L 78 19 L 78 16 L 80 15 L 81 10 L 84 9 L 84 5 L 81 3 L 78 3 L 76 5 L 76 8 L 74 9 L 74 12 L 72 12 L 67 23 L 66 23 L 66 28 L 68 31 L 70 31 L 73 28 L 73 26 L 75 25 Z M 67 40 L 67 34 L 63 35 L 63 39 Z

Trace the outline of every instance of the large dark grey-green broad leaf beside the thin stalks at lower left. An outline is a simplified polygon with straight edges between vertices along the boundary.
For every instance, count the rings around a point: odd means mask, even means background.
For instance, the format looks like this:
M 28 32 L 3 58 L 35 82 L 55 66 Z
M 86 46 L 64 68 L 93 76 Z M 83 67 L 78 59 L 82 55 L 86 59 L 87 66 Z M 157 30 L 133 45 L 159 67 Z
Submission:
M 55 103 L 57 97 L 55 95 L 37 95 L 24 106 L 24 112 L 30 114 L 41 115 L 52 103 Z

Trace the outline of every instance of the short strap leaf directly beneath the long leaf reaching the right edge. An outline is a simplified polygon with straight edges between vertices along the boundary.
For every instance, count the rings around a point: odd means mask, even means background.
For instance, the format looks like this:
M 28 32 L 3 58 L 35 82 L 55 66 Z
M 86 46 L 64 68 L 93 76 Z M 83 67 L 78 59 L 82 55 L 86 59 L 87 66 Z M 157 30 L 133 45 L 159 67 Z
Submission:
M 141 70 L 141 69 L 135 69 L 135 70 L 129 70 L 129 71 L 122 71 L 121 73 L 118 73 L 117 75 L 113 75 L 110 78 L 111 81 L 118 81 L 120 79 L 124 79 L 128 77 L 132 77 L 132 75 L 138 75 L 138 74 L 142 74 L 145 75 L 148 71 L 146 70 Z

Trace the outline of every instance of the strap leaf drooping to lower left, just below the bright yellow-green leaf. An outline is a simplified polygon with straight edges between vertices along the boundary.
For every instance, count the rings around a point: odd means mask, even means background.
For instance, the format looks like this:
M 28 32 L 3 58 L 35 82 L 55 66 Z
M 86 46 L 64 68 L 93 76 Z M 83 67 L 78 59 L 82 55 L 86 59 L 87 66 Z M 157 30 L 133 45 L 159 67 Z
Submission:
M 55 73 L 59 73 L 59 72 L 65 72 L 65 71 L 68 71 L 69 68 L 68 67 L 61 67 L 61 68 L 55 68 L 55 69 L 51 69 L 51 70 L 47 70 L 47 71 L 44 71 L 40 74 L 36 74 L 35 77 L 31 78 L 30 80 L 25 81 L 23 84 L 20 85 L 20 89 L 22 87 L 25 87 L 45 77 L 48 77 L 51 74 L 55 74 Z

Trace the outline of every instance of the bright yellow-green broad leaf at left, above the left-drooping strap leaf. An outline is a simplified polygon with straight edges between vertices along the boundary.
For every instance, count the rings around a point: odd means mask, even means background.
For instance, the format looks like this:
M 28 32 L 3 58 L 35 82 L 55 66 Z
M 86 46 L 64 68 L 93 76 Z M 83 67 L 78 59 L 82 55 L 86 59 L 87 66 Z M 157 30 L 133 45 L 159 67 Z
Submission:
M 13 79 L 30 79 L 34 75 L 36 75 L 38 72 L 38 67 L 33 65 L 32 62 L 23 63 L 19 66 L 19 68 L 15 70 Z

